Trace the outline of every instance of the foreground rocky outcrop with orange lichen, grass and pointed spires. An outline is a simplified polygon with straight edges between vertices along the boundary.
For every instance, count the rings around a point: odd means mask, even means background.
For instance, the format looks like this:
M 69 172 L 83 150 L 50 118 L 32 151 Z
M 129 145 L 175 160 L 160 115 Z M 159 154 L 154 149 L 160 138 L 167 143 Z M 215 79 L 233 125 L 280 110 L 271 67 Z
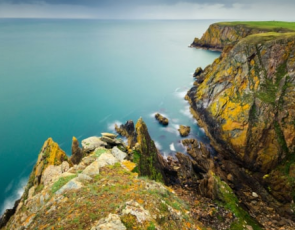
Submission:
M 140 164 L 156 163 L 155 155 L 148 158 L 149 149 L 157 150 L 146 144 L 153 142 L 141 119 L 136 128 L 139 149 L 145 154 Z M 191 217 L 188 204 L 171 188 L 138 177 L 136 163 L 127 160 L 126 146 L 115 136 L 103 133 L 83 140 L 82 151 L 87 154 L 76 164 L 69 163 L 65 153 L 48 139 L 26 195 L 1 229 L 202 229 Z M 76 138 L 72 147 L 77 152 Z M 147 176 L 162 178 L 149 171 L 150 167 L 139 168 Z

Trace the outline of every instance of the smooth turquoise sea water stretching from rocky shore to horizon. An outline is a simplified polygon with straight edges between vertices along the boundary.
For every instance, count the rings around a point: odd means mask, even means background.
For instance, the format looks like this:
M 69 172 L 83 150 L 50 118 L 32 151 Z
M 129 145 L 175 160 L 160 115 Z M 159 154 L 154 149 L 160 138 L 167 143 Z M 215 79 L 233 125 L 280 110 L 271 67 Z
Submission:
M 188 48 L 212 20 L 0 20 L 0 212 L 22 194 L 48 137 L 79 141 L 142 117 L 163 155 L 177 132 L 209 143 L 183 99 L 218 52 Z M 162 127 L 153 115 L 170 119 Z

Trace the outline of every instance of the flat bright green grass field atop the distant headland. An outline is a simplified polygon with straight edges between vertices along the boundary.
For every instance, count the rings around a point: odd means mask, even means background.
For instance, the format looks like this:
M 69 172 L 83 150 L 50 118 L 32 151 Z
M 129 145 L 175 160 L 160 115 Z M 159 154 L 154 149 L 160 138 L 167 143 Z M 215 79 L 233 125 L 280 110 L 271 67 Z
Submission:
M 236 21 L 236 22 L 219 22 L 219 25 L 227 26 L 246 26 L 249 28 L 257 28 L 270 31 L 295 31 L 295 22 L 281 22 L 281 21 Z

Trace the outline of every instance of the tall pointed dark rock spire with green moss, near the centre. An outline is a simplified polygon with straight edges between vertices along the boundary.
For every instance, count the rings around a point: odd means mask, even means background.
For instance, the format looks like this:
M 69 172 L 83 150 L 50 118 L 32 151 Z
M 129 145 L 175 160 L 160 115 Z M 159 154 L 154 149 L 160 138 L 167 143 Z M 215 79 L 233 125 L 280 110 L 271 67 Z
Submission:
M 140 118 L 136 123 L 137 151 L 140 154 L 139 174 L 156 181 L 165 181 L 164 160 L 151 139 L 147 126 Z

